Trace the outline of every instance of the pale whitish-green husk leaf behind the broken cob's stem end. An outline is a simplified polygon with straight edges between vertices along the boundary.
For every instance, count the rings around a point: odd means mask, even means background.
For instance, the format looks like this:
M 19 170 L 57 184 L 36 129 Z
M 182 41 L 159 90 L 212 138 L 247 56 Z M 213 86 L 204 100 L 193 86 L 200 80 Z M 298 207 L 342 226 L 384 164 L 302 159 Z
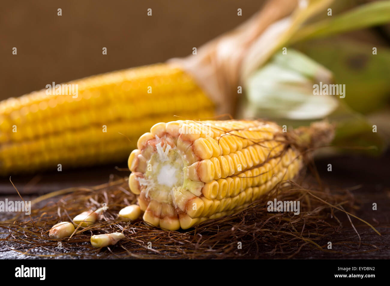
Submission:
M 304 54 L 289 49 L 276 54 L 246 81 L 245 117 L 313 120 L 337 108 L 328 95 L 313 95 L 313 84 L 329 83 L 332 73 Z

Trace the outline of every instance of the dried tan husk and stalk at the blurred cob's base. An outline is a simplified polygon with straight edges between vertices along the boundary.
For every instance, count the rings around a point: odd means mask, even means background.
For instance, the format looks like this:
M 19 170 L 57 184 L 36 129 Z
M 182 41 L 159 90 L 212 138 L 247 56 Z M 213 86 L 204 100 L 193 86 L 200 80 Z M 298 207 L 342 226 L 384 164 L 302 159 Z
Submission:
M 168 62 L 195 78 L 215 102 L 218 114 L 234 114 L 241 64 L 248 56 L 248 50 L 270 25 L 289 16 L 297 3 L 296 0 L 269 1 L 238 28 L 199 47 L 196 55 Z

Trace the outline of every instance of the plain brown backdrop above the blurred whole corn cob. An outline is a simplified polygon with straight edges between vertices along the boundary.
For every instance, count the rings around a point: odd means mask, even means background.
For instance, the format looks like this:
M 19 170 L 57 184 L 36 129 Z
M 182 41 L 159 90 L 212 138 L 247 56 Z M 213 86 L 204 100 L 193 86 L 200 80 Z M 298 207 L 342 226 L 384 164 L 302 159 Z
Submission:
M 89 75 L 192 53 L 262 0 L 2 2 L 0 100 Z M 57 9 L 62 16 L 57 16 Z M 152 16 L 147 16 L 147 9 Z M 241 8 L 243 16 L 237 16 Z M 17 48 L 17 55 L 12 54 Z M 102 48 L 107 47 L 107 55 Z

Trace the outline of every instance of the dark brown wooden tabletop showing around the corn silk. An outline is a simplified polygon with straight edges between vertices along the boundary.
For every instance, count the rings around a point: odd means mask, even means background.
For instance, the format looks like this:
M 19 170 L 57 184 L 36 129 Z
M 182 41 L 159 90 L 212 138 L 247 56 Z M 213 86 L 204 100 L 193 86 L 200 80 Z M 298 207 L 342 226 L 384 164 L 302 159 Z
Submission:
M 361 246 L 355 249 L 343 248 L 346 254 L 333 254 L 307 249 L 301 251 L 295 258 L 326 258 L 326 259 L 378 259 L 390 258 L 390 152 L 381 158 L 369 158 L 364 156 L 337 156 L 316 160 L 316 166 L 321 179 L 329 186 L 354 189 L 355 197 L 360 201 L 360 210 L 357 215 L 371 223 L 381 232 L 376 234 L 371 228 L 363 225 L 356 219 L 356 226 L 361 241 L 373 244 L 379 248 L 377 251 L 358 253 L 372 249 L 371 246 Z M 328 164 L 332 164 L 332 172 L 327 171 Z M 115 166 L 124 167 L 126 162 L 111 164 L 101 167 L 93 167 L 63 172 L 48 172 L 39 175 L 12 176 L 11 179 L 21 191 L 25 199 L 36 197 L 37 194 L 55 191 L 72 186 L 93 186 L 105 183 L 110 174 L 126 176 L 129 172 L 119 171 Z M 9 178 L 0 179 L 0 200 L 14 198 L 16 191 L 9 182 Z M 373 203 L 378 204 L 378 210 L 372 210 Z M 2 214 L 0 214 L 2 216 Z M 3 216 L 4 218 L 4 216 Z M 345 218 L 346 219 L 346 218 Z M 358 236 L 349 223 L 345 223 L 342 232 L 334 235 L 332 241 L 358 242 Z M 21 256 L 13 251 L 0 247 L 0 258 L 31 258 Z M 261 256 L 261 258 L 275 258 L 273 256 Z M 282 258 L 282 257 L 278 257 Z

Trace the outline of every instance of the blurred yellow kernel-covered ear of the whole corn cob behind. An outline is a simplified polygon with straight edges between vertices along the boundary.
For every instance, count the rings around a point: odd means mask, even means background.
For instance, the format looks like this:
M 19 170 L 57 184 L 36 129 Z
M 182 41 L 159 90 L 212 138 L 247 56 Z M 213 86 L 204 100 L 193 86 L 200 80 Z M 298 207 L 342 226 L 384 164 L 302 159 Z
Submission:
M 155 122 L 215 115 L 191 76 L 165 63 L 67 84 L 77 95 L 43 89 L 0 102 L 0 174 L 121 160 Z

